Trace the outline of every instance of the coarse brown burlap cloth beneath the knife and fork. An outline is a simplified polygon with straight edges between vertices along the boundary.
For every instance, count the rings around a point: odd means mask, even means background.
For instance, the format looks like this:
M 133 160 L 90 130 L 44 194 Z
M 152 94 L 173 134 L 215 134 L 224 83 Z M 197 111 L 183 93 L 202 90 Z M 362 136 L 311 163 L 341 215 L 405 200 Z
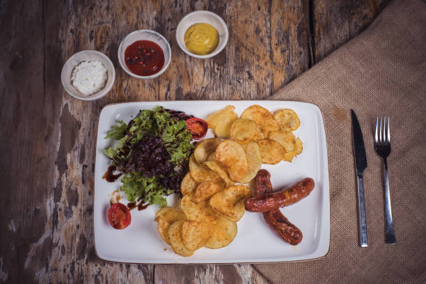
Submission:
M 259 264 L 272 283 L 425 283 L 426 4 L 395 1 L 347 42 L 271 100 L 317 104 L 329 155 L 331 240 L 321 259 Z M 351 119 L 363 130 L 368 248 L 358 247 Z M 374 121 L 390 116 L 390 196 L 397 244 L 384 242 L 383 164 Z M 301 244 L 303 245 L 303 243 Z

